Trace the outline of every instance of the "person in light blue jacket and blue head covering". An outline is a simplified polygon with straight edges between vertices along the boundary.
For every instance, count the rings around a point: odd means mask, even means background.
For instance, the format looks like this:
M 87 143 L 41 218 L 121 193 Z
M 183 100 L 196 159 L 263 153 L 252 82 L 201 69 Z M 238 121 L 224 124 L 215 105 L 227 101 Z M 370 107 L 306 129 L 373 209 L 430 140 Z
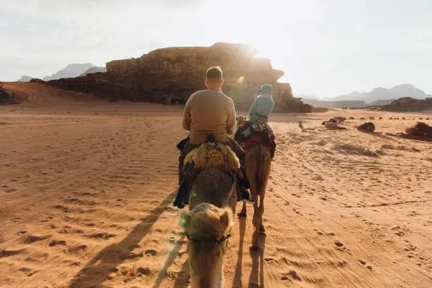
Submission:
M 275 101 L 272 98 L 272 85 L 265 84 L 258 90 L 258 96 L 249 109 L 250 122 L 256 124 L 258 120 L 268 124 L 268 116 L 275 108 Z

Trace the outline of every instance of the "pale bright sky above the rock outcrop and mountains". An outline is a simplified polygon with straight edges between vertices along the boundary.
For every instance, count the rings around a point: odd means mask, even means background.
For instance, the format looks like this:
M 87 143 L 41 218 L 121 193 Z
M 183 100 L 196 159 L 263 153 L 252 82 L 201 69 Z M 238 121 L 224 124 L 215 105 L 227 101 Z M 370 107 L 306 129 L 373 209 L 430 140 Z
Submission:
M 432 0 L 0 0 L 0 80 L 152 49 L 249 44 L 294 94 L 432 94 Z

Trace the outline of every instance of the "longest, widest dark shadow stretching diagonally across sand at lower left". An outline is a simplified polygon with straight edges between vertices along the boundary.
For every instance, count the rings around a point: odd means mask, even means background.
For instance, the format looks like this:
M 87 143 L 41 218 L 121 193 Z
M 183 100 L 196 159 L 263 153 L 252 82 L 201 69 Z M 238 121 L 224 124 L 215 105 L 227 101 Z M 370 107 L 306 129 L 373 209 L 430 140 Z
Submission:
M 176 193 L 170 194 L 149 215 L 144 217 L 140 224 L 120 242 L 105 247 L 97 256 L 90 260 L 74 277 L 69 288 L 79 287 L 102 287 L 111 272 L 116 272 L 116 267 L 128 258 L 136 258 L 139 255 L 132 254 L 131 251 L 143 239 L 152 228 L 153 224 L 159 219 L 160 215 L 167 210 L 167 206 L 172 204 Z

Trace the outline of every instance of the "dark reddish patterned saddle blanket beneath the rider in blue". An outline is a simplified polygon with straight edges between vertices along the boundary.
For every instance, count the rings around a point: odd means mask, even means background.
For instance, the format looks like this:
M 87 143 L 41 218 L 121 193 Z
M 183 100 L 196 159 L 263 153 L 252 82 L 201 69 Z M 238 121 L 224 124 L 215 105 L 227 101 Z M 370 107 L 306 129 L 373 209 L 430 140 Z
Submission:
M 237 129 L 234 140 L 245 150 L 254 145 L 264 145 L 270 150 L 272 159 L 275 157 L 275 133 L 264 121 L 258 120 L 255 124 L 246 121 Z

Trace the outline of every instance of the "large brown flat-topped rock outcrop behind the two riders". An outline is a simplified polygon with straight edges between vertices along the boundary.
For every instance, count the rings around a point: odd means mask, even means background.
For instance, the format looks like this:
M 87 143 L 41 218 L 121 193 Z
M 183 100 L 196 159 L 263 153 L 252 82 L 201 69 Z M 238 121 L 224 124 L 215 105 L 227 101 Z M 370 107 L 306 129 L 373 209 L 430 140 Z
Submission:
M 269 59 L 255 58 L 243 44 L 216 43 L 211 47 L 157 49 L 137 59 L 107 63 L 107 73 L 49 81 L 66 90 L 91 92 L 109 100 L 185 103 L 196 90 L 205 89 L 205 71 L 220 66 L 224 92 L 237 109 L 248 109 L 261 85 L 273 85 L 275 112 L 311 112 L 312 107 L 292 95 L 291 85 L 277 83 L 283 72 Z

